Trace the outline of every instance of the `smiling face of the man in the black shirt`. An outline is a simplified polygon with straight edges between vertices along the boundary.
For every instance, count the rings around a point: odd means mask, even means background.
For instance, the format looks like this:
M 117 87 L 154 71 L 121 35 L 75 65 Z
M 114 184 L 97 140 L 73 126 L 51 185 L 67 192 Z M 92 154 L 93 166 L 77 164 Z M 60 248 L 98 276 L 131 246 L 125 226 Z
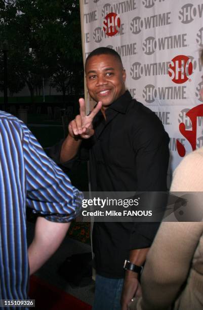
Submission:
M 86 80 L 90 96 L 102 101 L 103 109 L 126 91 L 126 71 L 113 55 L 95 55 L 86 63 Z

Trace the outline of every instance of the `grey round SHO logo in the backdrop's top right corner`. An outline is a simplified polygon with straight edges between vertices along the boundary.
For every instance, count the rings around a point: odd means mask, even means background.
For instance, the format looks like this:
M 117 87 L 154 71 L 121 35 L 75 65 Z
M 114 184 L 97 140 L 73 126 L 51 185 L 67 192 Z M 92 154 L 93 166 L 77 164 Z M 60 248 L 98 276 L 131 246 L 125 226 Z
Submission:
M 197 7 L 194 7 L 193 4 L 188 3 L 181 8 L 179 11 L 179 19 L 183 24 L 191 23 L 195 17 L 202 17 L 203 5 L 199 4 Z

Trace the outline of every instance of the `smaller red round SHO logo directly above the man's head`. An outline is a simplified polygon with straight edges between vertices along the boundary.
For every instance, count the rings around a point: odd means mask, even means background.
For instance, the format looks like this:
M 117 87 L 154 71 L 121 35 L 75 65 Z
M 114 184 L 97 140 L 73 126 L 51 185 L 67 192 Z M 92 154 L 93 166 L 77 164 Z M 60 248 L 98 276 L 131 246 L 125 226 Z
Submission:
M 109 13 L 104 20 L 104 32 L 108 36 L 113 36 L 120 28 L 120 18 L 115 13 Z

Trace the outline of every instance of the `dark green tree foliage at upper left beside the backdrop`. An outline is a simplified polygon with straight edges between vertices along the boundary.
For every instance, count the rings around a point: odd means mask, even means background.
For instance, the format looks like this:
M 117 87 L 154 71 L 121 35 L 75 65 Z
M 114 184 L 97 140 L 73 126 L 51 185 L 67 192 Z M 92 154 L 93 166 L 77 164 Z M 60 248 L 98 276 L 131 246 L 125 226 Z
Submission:
M 6 39 L 9 45 L 11 93 L 26 84 L 33 100 L 44 78 L 65 96 L 70 86 L 74 88 L 76 75 L 80 79 L 76 84 L 82 83 L 77 0 L 0 0 L 0 16 L 0 42 Z M 2 61 L 0 66 L 2 72 Z

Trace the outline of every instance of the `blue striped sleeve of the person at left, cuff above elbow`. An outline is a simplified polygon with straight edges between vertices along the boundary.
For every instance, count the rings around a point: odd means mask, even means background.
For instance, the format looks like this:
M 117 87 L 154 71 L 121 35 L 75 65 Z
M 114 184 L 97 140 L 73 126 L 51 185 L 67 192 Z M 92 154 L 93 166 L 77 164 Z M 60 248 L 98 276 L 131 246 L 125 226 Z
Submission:
M 23 124 L 23 153 L 26 172 L 26 204 L 34 212 L 55 222 L 68 222 L 80 212 L 83 194 L 45 154 Z

